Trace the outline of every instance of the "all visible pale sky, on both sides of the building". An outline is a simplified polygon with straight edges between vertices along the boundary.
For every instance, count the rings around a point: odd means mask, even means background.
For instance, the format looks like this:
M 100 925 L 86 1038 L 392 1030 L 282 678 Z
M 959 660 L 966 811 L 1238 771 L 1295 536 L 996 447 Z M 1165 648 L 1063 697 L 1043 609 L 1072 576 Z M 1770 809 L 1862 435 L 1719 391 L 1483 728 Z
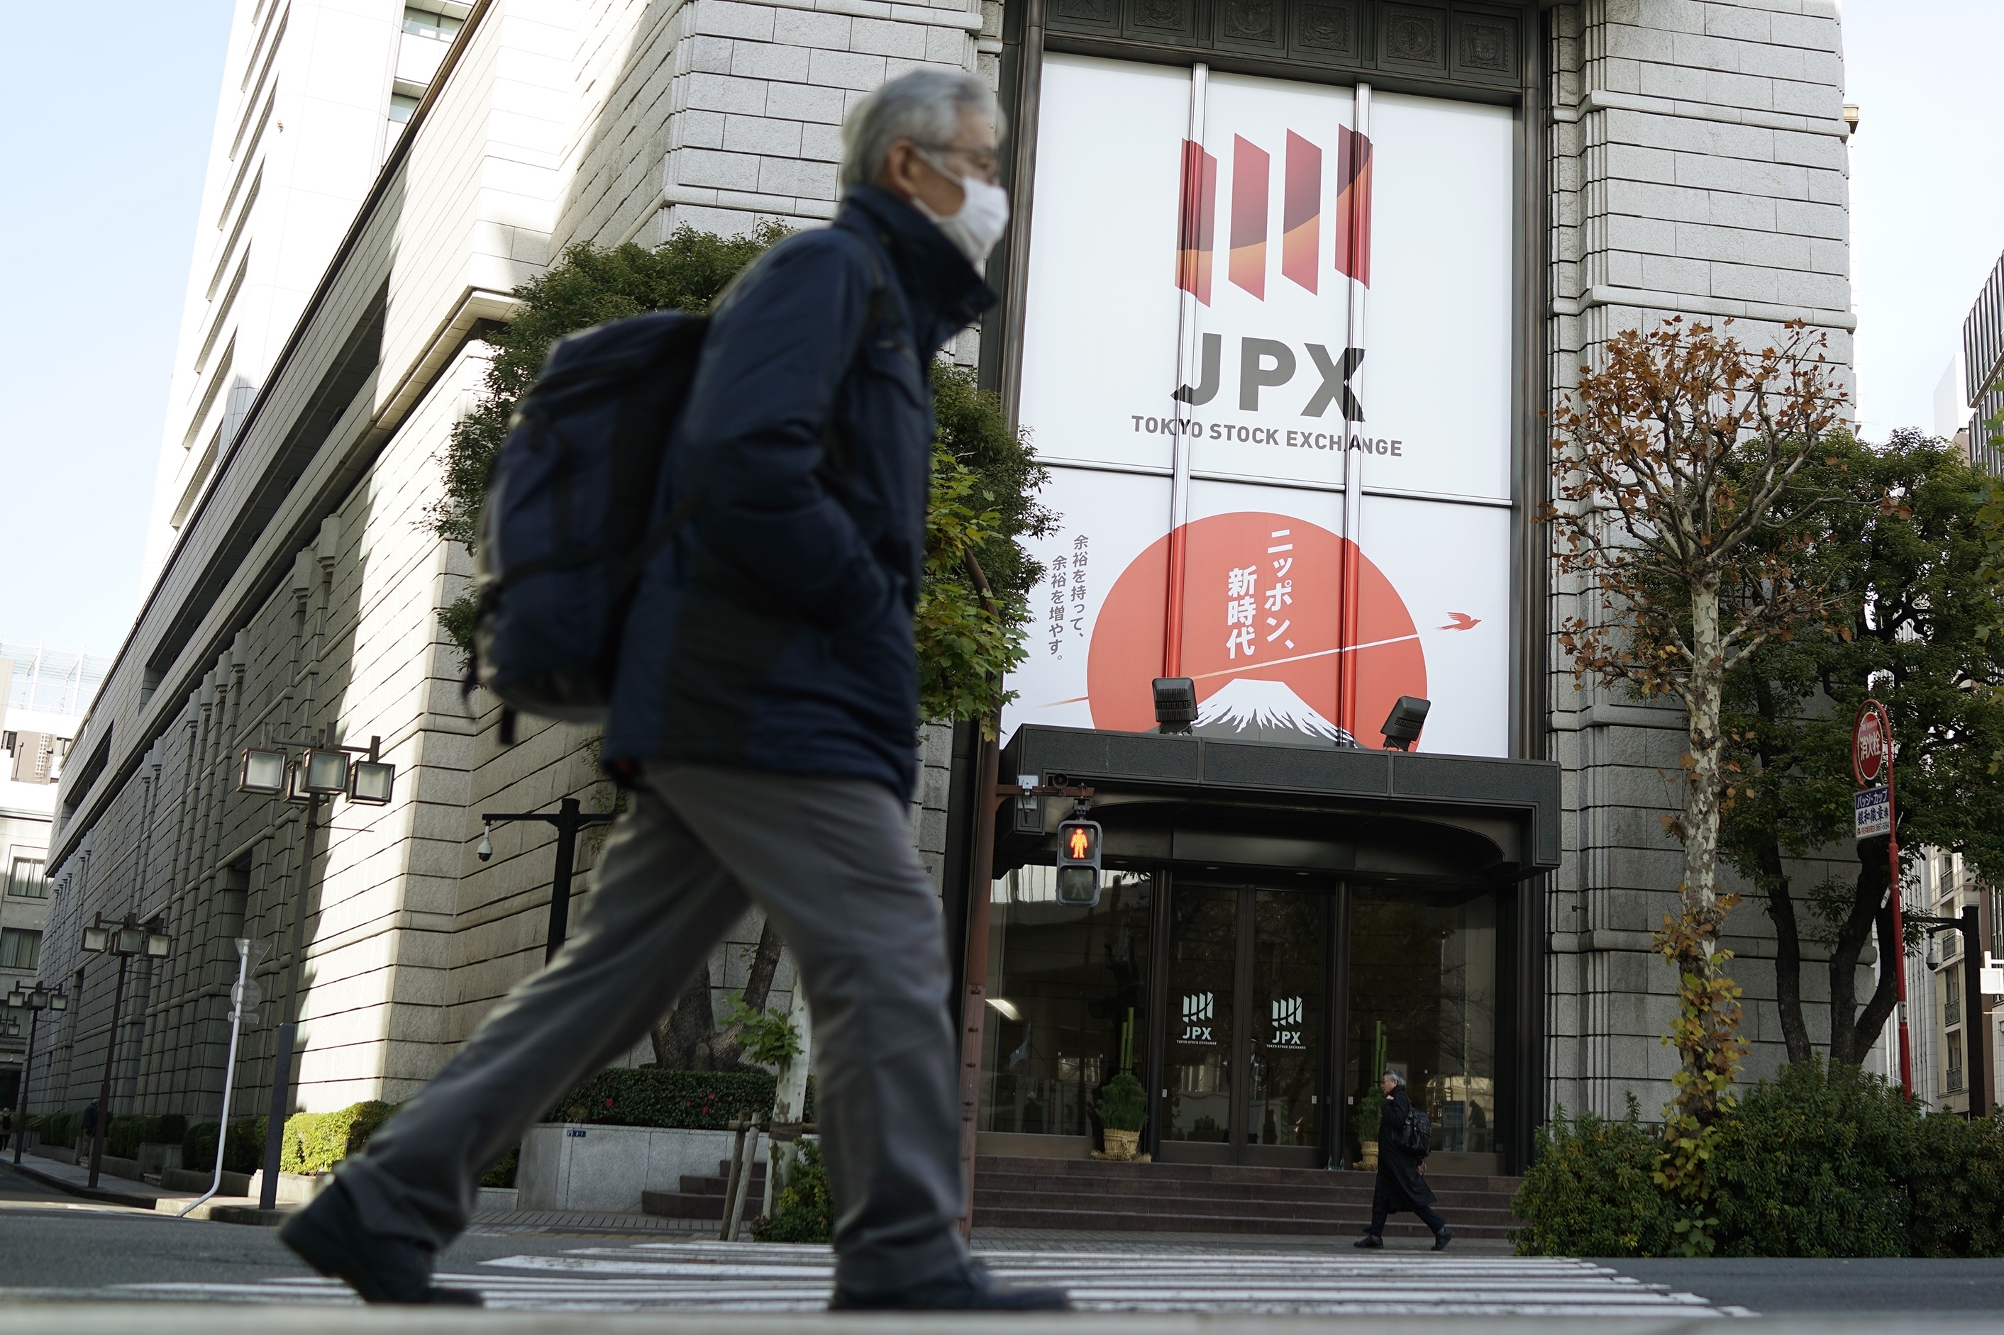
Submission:
M 14 256 L 0 288 L 0 638 L 112 652 L 142 592 L 230 4 L 0 0 L 0 108 L 16 126 L 0 142 L 0 254 Z M 1988 166 L 2004 4 L 1846 0 L 1844 48 L 1864 114 L 1852 146 L 1860 416 L 1882 438 L 1934 426 L 1934 386 L 2004 250 L 2004 172 Z

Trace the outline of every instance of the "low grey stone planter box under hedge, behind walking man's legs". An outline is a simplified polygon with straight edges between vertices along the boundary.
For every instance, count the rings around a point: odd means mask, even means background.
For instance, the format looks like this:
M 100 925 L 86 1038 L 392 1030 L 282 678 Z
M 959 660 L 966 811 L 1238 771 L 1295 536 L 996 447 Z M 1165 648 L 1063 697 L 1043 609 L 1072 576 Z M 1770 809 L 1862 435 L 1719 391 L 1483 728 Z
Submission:
M 641 1213 L 643 1191 L 681 1191 L 681 1179 L 715 1177 L 729 1163 L 731 1131 L 667 1131 L 543 1123 L 521 1139 L 517 1209 Z M 760 1137 L 758 1161 L 770 1141 Z

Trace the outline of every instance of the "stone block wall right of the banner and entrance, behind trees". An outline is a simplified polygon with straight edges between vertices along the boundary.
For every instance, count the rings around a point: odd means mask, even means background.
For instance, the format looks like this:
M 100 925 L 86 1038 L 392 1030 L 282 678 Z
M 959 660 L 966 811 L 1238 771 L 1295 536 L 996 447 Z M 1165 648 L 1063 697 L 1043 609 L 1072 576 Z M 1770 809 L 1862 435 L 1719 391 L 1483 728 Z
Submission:
M 1621 330 L 1685 316 L 1754 348 L 1802 320 L 1850 382 L 1848 128 L 1834 0 L 1585 0 L 1549 12 L 1551 380 L 1557 394 Z M 1559 580 L 1553 620 L 1599 616 Z M 1675 1017 L 1649 933 L 1675 911 L 1683 715 L 1577 687 L 1551 646 L 1551 755 L 1565 767 L 1565 869 L 1547 901 L 1549 1097 L 1605 1115 L 1669 1099 Z M 1848 849 L 1790 869 L 1798 891 L 1856 875 Z M 1745 895 L 1727 929 L 1745 987 L 1747 1077 L 1784 1061 L 1774 929 Z M 1828 971 L 1806 951 L 1812 1039 L 1828 1039 Z M 1864 973 L 1870 973 L 1866 969 Z M 1870 979 L 1862 983 L 1870 989 Z

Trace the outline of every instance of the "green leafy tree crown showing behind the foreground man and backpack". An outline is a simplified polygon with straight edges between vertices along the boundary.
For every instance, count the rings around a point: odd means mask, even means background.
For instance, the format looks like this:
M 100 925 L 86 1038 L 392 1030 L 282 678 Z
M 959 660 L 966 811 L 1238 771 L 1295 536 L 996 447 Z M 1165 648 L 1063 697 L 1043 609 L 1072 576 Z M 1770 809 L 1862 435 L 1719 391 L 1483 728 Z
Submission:
M 776 222 L 735 238 L 683 226 L 659 250 L 579 244 L 515 288 L 521 306 L 489 334 L 487 392 L 445 448 L 445 494 L 427 508 L 431 530 L 467 546 L 477 540 L 509 416 L 557 338 L 645 310 L 709 310 L 729 280 L 786 234 Z M 1044 468 L 1028 440 L 1008 428 L 996 396 L 938 362 L 932 386 L 938 438 L 918 604 L 920 719 L 982 719 L 992 729 L 1012 695 L 1002 677 L 1024 658 L 1030 588 L 1044 574 L 1018 540 L 1050 532 L 1056 516 L 1038 504 Z M 992 586 L 1000 620 L 974 586 L 970 556 Z M 461 652 L 471 652 L 473 596 L 447 606 L 441 622 Z

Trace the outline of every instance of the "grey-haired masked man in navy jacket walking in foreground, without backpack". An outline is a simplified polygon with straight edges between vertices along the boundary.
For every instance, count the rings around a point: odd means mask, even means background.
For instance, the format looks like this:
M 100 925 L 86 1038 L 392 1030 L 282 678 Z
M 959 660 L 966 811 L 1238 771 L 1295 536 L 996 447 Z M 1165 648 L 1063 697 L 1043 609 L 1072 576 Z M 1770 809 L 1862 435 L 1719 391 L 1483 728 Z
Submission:
M 938 897 L 908 835 L 926 366 L 994 302 L 1008 222 L 980 80 L 898 78 L 844 124 L 842 210 L 711 316 L 663 478 L 693 512 L 651 558 L 607 729 L 631 809 L 577 933 L 281 1231 L 369 1301 L 431 1283 L 477 1175 L 627 1051 L 749 905 L 814 999 L 838 1309 L 1062 1309 L 994 1285 L 964 1205 Z M 693 504 L 689 500 L 693 498 Z

